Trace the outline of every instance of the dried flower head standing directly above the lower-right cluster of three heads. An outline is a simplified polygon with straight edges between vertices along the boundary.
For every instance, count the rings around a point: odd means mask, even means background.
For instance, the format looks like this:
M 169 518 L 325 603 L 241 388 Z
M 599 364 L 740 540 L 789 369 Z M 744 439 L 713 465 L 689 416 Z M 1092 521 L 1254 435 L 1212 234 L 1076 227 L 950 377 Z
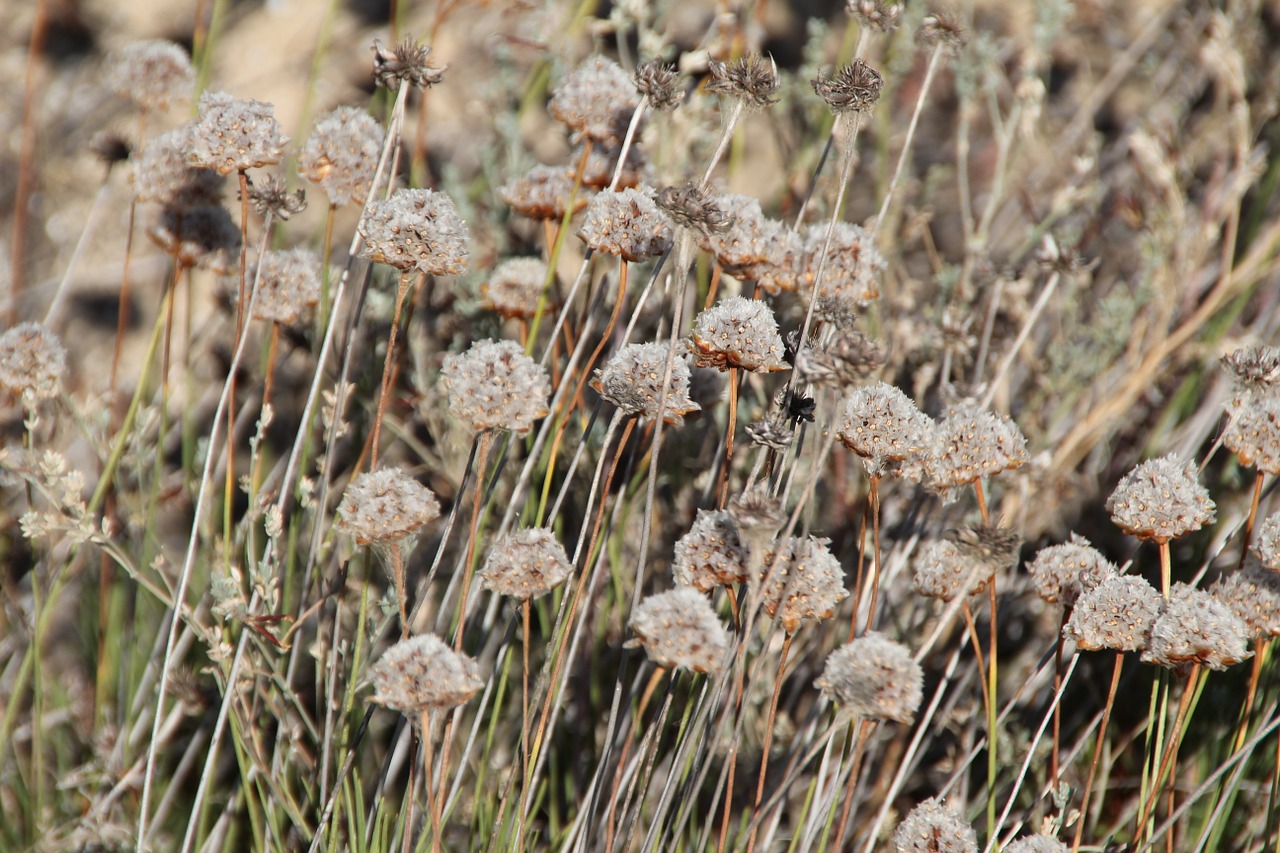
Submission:
M 1196 466 L 1175 456 L 1147 460 L 1124 475 L 1107 498 L 1111 521 L 1139 539 L 1169 542 L 1199 530 L 1215 517 L 1208 489 Z

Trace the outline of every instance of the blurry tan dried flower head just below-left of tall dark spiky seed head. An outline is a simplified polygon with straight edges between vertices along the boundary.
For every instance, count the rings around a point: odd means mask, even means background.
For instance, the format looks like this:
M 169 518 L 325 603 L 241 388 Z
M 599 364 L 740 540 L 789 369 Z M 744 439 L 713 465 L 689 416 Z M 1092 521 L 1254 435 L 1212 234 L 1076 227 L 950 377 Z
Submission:
M 339 106 L 320 117 L 311 129 L 298 152 L 298 174 L 320 184 L 330 206 L 365 204 L 384 138 L 383 126 L 372 115 Z

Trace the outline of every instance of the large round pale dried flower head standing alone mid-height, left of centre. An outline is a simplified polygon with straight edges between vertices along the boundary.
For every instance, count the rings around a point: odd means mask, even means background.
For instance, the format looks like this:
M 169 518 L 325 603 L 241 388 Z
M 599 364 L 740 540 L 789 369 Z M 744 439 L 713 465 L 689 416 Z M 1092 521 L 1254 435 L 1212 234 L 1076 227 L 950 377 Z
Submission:
M 477 341 L 444 356 L 440 384 L 449 412 L 472 429 L 527 433 L 547 414 L 552 384 L 547 369 L 515 341 Z

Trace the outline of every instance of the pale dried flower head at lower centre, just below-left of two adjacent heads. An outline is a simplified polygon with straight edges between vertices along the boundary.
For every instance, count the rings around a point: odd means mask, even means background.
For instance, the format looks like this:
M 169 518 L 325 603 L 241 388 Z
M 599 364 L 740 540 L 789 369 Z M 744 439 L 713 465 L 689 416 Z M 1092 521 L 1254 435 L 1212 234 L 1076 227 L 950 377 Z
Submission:
M 668 669 L 716 672 L 728 651 L 728 631 L 712 603 L 689 587 L 640 602 L 631 615 L 631 630 L 636 638 L 627 647 L 643 646 L 649 660 Z

